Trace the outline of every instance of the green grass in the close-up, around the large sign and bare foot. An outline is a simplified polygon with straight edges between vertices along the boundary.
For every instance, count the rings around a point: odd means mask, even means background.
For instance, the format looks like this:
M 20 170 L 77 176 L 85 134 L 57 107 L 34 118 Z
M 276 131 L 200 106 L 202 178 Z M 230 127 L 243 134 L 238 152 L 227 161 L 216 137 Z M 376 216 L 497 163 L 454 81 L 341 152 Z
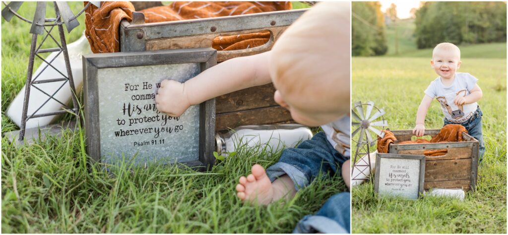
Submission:
M 23 4 L 21 14 L 34 6 Z M 74 12 L 80 6 L 73 3 Z M 81 36 L 83 16 L 79 20 L 68 42 Z M 5 112 L 26 79 L 29 27 L 2 19 L 3 133 L 18 128 Z M 338 174 L 315 180 L 289 203 L 248 206 L 236 197 L 238 178 L 255 163 L 273 164 L 280 153 L 241 149 L 206 173 L 174 166 L 131 171 L 127 162 L 111 176 L 91 163 L 84 138 L 82 130 L 66 131 L 21 147 L 2 138 L 2 232 L 289 233 L 304 215 L 346 190 Z

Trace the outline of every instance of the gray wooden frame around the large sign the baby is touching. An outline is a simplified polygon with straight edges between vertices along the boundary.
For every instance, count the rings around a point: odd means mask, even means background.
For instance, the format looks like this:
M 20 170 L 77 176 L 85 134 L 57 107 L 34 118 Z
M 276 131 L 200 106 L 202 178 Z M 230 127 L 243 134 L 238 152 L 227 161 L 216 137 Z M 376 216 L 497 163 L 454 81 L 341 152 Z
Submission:
M 161 50 L 147 52 L 102 53 L 83 56 L 84 119 L 86 150 L 92 159 L 101 162 L 99 120 L 98 70 L 135 66 L 200 63 L 200 70 L 217 63 L 217 51 L 212 48 Z M 211 169 L 215 145 L 215 99 L 199 105 L 199 160 L 179 162 L 190 167 Z M 199 167 L 203 168 L 203 167 Z

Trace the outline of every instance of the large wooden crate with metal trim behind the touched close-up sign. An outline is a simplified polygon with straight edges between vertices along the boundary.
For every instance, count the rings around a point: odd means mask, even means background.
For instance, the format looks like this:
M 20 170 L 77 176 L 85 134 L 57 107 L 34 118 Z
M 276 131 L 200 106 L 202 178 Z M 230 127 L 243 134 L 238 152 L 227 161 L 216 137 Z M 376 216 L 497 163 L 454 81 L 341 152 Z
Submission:
M 141 9 L 136 9 L 141 10 Z M 306 10 L 289 10 L 160 23 L 145 23 L 144 15 L 133 13 L 132 22 L 120 24 L 120 51 L 156 51 L 211 47 L 218 36 L 269 30 L 270 40 L 262 46 L 235 51 L 217 51 L 217 62 L 269 51 L 281 33 Z M 289 111 L 273 100 L 275 88 L 267 84 L 216 98 L 216 130 L 240 125 L 294 122 Z

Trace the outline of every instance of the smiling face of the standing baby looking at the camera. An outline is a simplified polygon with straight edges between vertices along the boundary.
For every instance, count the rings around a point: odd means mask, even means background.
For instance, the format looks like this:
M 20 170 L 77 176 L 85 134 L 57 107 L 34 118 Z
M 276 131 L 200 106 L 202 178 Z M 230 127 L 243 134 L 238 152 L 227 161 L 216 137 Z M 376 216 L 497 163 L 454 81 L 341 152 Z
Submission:
M 460 68 L 460 56 L 454 50 L 438 50 L 432 56 L 430 65 L 437 75 L 443 79 L 454 78 Z

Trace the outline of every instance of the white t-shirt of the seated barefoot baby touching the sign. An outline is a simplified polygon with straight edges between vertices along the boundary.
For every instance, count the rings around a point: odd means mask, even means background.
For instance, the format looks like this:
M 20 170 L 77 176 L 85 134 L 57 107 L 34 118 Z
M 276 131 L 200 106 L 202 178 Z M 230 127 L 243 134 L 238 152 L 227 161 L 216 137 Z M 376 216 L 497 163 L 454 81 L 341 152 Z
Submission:
M 344 157 L 351 157 L 351 118 L 347 115 L 325 125 L 321 128 L 325 131 L 326 138 Z

